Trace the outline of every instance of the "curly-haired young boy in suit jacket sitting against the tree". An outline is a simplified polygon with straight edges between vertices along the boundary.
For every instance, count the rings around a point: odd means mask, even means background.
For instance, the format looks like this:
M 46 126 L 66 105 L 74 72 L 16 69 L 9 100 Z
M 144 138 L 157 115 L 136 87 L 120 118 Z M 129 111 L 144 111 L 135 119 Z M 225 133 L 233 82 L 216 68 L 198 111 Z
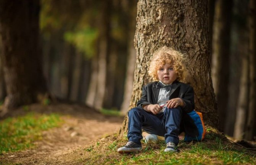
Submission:
M 120 154 L 142 149 L 142 130 L 149 134 L 144 137 L 146 143 L 164 136 L 165 152 L 177 152 L 178 135 L 183 131 L 191 137 L 198 136 L 197 127 L 187 114 L 194 109 L 193 88 L 180 82 L 186 76 L 183 61 L 183 54 L 165 46 L 153 54 L 149 75 L 157 81 L 143 87 L 137 107 L 128 112 L 129 141 L 118 149 Z

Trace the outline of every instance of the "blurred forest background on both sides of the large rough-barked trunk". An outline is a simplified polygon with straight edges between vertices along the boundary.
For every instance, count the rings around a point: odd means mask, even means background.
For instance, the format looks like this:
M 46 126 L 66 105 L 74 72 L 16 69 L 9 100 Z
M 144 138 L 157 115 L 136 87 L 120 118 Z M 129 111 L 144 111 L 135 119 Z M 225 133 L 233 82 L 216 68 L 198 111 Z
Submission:
M 251 33 L 249 0 L 208 0 L 212 81 L 224 133 L 255 140 L 249 111 Z M 128 111 L 136 53 L 136 0 L 41 0 L 40 49 L 47 87 L 65 101 Z M 254 19 L 255 21 L 255 19 Z M 255 23 L 254 23 L 255 25 Z M 255 29 L 255 27 L 253 27 Z M 0 40 L 1 45 L 4 40 Z M 254 53 L 255 59 L 255 53 Z M 189 66 L 188 66 L 189 67 Z M 0 64 L 0 100 L 6 96 Z M 255 95 L 254 95 L 254 102 Z

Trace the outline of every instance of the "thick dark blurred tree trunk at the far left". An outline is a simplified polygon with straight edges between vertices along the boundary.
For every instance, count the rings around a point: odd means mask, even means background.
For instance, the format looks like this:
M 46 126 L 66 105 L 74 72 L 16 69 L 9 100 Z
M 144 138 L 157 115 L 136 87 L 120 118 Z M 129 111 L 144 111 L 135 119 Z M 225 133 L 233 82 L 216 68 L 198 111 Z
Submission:
M 1 0 L 0 30 L 7 91 L 5 107 L 41 100 L 47 88 L 39 60 L 39 0 Z

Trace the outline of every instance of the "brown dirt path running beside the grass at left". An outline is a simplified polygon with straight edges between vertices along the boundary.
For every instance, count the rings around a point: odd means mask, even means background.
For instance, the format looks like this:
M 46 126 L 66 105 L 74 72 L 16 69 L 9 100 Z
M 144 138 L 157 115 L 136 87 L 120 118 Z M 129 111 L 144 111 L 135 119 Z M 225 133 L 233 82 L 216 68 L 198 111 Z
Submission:
M 19 165 L 66 164 L 65 157 L 81 147 L 104 136 L 117 132 L 123 117 L 105 116 L 89 107 L 69 104 L 29 106 L 31 111 L 39 113 L 60 113 L 65 123 L 60 128 L 53 128 L 43 132 L 43 139 L 37 141 L 36 147 L 25 151 L 12 152 L 0 155 L 1 162 L 10 162 Z M 18 109 L 11 115 L 23 114 Z

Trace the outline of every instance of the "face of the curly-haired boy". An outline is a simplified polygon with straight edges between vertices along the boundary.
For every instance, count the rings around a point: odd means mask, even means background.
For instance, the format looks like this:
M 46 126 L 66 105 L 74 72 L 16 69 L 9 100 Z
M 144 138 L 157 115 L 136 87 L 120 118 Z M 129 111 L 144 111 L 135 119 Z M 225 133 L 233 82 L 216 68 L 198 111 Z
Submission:
M 164 84 L 170 84 L 177 79 L 177 74 L 173 70 L 172 65 L 165 64 L 157 70 L 157 76 L 159 80 Z

